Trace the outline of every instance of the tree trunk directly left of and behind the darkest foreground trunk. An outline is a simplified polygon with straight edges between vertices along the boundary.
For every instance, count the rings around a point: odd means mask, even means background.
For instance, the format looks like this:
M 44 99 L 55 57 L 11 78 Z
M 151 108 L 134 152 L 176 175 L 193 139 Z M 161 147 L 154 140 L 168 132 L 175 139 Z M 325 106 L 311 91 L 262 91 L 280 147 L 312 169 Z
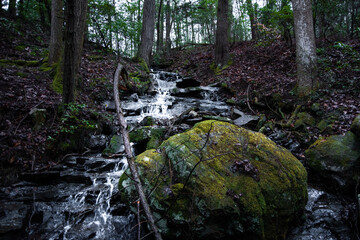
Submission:
M 51 35 L 49 46 L 49 65 L 58 62 L 62 54 L 62 25 L 63 11 L 62 0 L 52 0 L 51 2 Z

